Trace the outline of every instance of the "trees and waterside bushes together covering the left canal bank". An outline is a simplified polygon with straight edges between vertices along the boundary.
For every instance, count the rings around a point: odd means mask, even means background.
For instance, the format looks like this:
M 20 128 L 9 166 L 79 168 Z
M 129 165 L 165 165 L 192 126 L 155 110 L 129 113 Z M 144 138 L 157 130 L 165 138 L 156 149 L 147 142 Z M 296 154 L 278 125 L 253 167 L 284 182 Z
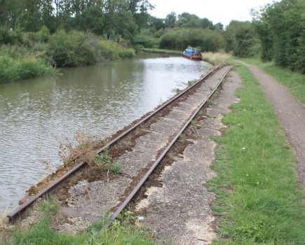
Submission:
M 149 8 L 147 0 L 1 1 L 1 49 L 25 49 L 29 55 L 20 52 L 17 59 L 1 52 L 0 83 L 55 73 L 51 66 L 133 57 L 128 46 L 147 22 Z

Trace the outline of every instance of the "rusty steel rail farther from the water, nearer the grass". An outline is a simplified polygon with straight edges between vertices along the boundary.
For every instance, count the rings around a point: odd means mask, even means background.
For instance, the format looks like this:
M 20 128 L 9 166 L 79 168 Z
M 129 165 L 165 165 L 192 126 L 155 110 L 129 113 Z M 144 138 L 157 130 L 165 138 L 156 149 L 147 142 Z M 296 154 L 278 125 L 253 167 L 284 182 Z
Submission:
M 191 116 L 191 118 L 189 118 L 189 120 L 187 121 L 187 123 L 184 124 L 184 126 L 181 128 L 181 130 L 179 130 L 179 132 L 175 135 L 174 139 L 172 139 L 172 141 L 170 141 L 170 144 L 165 148 L 165 150 L 161 153 L 161 155 L 158 157 L 158 159 L 154 162 L 153 165 L 151 165 L 150 169 L 147 171 L 147 173 L 144 175 L 144 177 L 141 179 L 141 181 L 137 184 L 137 186 L 135 186 L 135 188 L 133 189 L 133 191 L 128 195 L 128 197 L 126 197 L 126 200 L 124 200 L 124 202 L 120 205 L 120 207 L 118 207 L 118 209 L 116 209 L 116 212 L 111 216 L 110 220 L 108 221 L 108 223 L 106 223 L 106 225 L 104 225 L 104 227 L 101 229 L 101 233 L 104 232 L 105 229 L 109 228 L 109 226 L 111 225 L 112 222 L 114 222 L 114 220 L 118 217 L 119 214 L 121 214 L 121 211 L 123 211 L 123 209 L 126 208 L 126 206 L 128 205 L 128 203 L 133 199 L 133 197 L 135 196 L 135 194 L 140 190 L 140 188 L 143 186 L 143 184 L 147 181 L 147 179 L 149 178 L 149 176 L 151 175 L 152 172 L 154 172 L 154 169 L 156 169 L 156 167 L 158 166 L 158 164 L 161 162 L 161 160 L 163 160 L 163 158 L 165 157 L 165 155 L 168 153 L 168 151 L 170 151 L 170 148 L 172 148 L 172 146 L 175 144 L 175 142 L 177 141 L 177 139 L 179 138 L 179 135 L 182 134 L 182 132 L 184 132 L 184 130 L 189 126 L 189 124 L 191 123 L 191 120 L 193 120 L 195 118 L 195 116 L 197 115 L 197 113 L 201 110 L 201 108 L 205 105 L 205 103 L 208 101 L 208 99 L 210 99 L 210 97 L 215 93 L 215 91 L 217 90 L 217 88 L 219 87 L 220 84 L 222 84 L 222 81 L 224 80 L 224 78 L 226 77 L 227 73 L 229 72 L 226 71 L 226 73 L 224 73 L 224 76 L 222 76 L 222 79 L 219 80 L 219 82 L 217 83 L 217 85 L 214 87 L 214 89 L 210 92 L 210 94 L 208 95 L 208 97 L 205 98 L 205 100 L 200 104 L 200 106 L 198 107 L 198 109 L 196 109 L 196 111 L 193 113 L 193 115 Z

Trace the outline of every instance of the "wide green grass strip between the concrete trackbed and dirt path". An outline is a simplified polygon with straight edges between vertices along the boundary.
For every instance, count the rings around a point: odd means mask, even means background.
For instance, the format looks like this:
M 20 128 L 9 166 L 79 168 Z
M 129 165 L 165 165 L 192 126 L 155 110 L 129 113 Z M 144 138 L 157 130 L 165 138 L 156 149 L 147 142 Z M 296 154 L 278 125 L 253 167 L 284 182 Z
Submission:
M 271 104 L 245 66 L 237 71 L 240 103 L 223 119 L 210 182 L 217 193 L 219 239 L 214 244 L 305 244 L 304 193 L 296 159 Z

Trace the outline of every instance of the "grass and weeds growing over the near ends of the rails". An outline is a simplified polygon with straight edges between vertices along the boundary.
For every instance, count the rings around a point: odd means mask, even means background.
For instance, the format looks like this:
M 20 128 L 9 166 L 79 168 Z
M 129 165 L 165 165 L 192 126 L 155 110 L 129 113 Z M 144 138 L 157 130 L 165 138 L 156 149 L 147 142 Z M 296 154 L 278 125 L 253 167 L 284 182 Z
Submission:
M 121 214 L 118 219 L 100 235 L 100 228 L 104 222 L 91 225 L 86 232 L 79 232 L 77 235 L 64 235 L 55 232 L 52 228 L 53 219 L 59 209 L 59 204 L 52 198 L 42 202 L 39 211 L 43 216 L 39 223 L 36 223 L 29 230 L 16 231 L 13 238 L 13 245 L 74 245 L 74 244 L 154 244 L 151 235 L 143 228 L 136 227 L 135 216 L 130 211 Z

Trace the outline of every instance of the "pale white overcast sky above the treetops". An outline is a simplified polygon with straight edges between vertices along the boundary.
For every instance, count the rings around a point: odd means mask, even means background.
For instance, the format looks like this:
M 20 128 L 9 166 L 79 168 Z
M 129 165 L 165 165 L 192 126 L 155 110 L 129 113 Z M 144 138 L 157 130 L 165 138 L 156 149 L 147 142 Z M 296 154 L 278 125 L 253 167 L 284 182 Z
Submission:
M 279 1 L 279 0 L 278 0 Z M 259 10 L 260 6 L 272 3 L 273 0 L 149 0 L 155 6 L 150 14 L 165 18 L 174 11 L 177 15 L 183 12 L 208 18 L 213 24 L 222 22 L 229 25 L 231 20 L 252 20 L 251 8 Z

